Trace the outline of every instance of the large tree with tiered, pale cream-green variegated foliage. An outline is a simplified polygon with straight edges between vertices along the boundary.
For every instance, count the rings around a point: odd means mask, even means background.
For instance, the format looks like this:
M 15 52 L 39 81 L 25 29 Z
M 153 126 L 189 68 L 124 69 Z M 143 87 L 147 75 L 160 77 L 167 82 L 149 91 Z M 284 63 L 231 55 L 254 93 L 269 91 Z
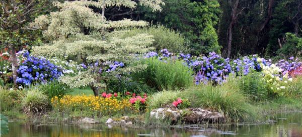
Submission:
M 111 6 L 135 8 L 138 4 L 155 11 L 161 11 L 160 6 L 164 5 L 160 0 L 54 3 L 58 12 L 40 16 L 31 24 L 32 28 L 44 29 L 44 36 L 48 40 L 43 46 L 33 47 L 33 54 L 48 57 L 68 56 L 68 59 L 83 62 L 85 71 L 64 76 L 61 81 L 72 88 L 90 86 L 97 96 L 100 88 L 106 87 L 108 79 L 143 69 L 144 65 L 129 64 L 135 60 L 135 54 L 152 50 L 149 46 L 154 39 L 147 34 L 128 37 L 125 33 L 134 27 L 147 26 L 147 22 L 128 19 L 106 21 L 103 15 L 94 13 L 89 7 L 104 10 Z

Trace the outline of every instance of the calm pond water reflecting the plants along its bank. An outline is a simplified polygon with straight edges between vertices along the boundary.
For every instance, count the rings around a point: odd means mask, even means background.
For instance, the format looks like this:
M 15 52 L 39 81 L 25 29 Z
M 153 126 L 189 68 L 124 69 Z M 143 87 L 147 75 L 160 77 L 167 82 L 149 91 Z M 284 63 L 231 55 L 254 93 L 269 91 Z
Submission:
M 3 137 L 73 137 L 73 136 L 259 136 L 302 137 L 302 113 L 282 113 L 267 118 L 263 124 L 215 125 L 216 128 L 128 128 L 108 125 L 24 124 L 10 122 L 10 132 Z

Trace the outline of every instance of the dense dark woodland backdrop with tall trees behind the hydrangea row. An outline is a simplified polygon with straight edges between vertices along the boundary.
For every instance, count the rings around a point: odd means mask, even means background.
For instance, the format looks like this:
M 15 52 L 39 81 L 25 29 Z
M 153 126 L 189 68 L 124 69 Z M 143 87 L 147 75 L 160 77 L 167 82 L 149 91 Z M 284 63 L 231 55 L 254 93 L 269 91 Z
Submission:
M 196 55 L 210 51 L 224 57 L 301 53 L 297 48 L 301 45 L 300 0 L 166 0 L 165 4 L 162 12 L 108 8 L 105 16 L 145 20 L 179 31 Z

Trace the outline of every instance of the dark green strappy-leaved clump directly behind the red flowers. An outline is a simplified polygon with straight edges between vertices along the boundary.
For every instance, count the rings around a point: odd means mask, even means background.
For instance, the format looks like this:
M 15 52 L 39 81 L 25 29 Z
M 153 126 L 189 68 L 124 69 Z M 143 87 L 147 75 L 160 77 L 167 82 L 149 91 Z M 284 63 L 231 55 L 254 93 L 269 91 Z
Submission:
M 144 83 L 140 83 L 138 81 L 124 80 L 121 78 L 119 81 L 110 82 L 107 85 L 107 90 L 113 92 L 125 93 L 127 91 L 134 93 L 152 93 L 155 92 L 154 89 L 150 88 Z

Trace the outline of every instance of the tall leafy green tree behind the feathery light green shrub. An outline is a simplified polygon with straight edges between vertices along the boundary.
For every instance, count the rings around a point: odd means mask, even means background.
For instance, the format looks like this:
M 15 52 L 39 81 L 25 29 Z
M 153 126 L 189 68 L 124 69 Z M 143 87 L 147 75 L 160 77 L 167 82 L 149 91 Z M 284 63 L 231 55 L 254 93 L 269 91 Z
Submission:
M 195 55 L 212 51 L 220 53 L 215 27 L 221 11 L 216 0 L 167 0 L 165 3 L 163 11 L 157 13 L 139 7 L 137 16 L 180 31 Z

